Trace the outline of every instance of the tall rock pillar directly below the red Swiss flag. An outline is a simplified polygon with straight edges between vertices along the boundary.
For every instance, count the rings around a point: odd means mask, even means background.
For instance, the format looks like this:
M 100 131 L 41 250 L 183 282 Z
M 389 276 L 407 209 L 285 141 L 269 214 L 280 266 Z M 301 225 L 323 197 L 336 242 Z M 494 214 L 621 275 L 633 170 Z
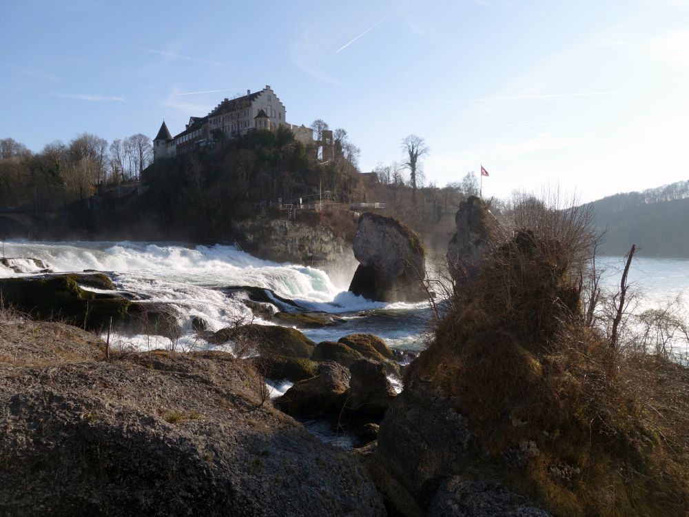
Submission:
M 462 290 L 476 279 L 499 225 L 486 203 L 477 196 L 470 196 L 460 203 L 455 227 L 457 230 L 447 249 L 447 261 L 455 283 Z

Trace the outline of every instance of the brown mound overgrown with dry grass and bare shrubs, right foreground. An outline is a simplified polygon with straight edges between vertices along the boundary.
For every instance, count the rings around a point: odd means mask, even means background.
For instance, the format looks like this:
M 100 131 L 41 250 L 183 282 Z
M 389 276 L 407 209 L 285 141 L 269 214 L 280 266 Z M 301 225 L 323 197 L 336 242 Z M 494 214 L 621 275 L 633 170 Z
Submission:
M 613 346 L 616 312 L 600 310 L 586 281 L 599 239 L 590 212 L 520 201 L 409 376 L 469 417 L 490 452 L 473 472 L 555 514 L 685 514 L 689 370 L 666 352 L 687 326 L 671 310 L 623 314 L 624 346 Z

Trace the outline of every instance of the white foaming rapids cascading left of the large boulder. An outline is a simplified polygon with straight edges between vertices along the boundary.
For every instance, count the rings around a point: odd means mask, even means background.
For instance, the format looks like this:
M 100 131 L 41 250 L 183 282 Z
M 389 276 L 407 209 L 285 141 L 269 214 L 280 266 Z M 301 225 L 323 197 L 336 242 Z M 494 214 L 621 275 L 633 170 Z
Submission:
M 5 256 L 40 259 L 54 272 L 107 272 L 120 290 L 142 296 L 147 303 L 174 307 L 185 336 L 181 349 L 209 347 L 192 333 L 192 318 L 203 318 L 209 330 L 251 317 L 240 296 L 220 291 L 231 286 L 262 287 L 310 310 L 342 314 L 345 323 L 305 333 L 314 341 L 337 340 L 351 332 L 371 332 L 401 349 L 418 349 L 424 327 L 424 304 L 369 301 L 335 285 L 322 270 L 256 259 L 231 245 L 187 246 L 176 243 L 71 242 L 5 243 Z M 26 273 L 38 272 L 32 261 L 18 263 Z M 0 276 L 18 276 L 0 265 Z M 278 303 L 276 303 L 278 305 Z M 278 307 L 276 306 L 276 310 Z M 267 321 L 256 323 L 269 324 Z M 138 349 L 169 347 L 161 336 L 114 336 L 116 343 Z

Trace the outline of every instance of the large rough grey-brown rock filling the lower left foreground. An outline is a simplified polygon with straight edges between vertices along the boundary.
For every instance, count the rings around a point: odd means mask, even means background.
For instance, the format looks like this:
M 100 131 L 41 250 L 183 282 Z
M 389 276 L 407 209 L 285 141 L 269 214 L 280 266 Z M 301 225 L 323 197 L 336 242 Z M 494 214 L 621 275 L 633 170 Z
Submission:
M 42 325 L 59 340 L 62 327 Z M 256 372 L 229 354 L 94 362 L 84 343 L 82 358 L 18 366 L 4 359 L 9 344 L 0 339 L 0 514 L 385 514 L 358 467 L 262 405 Z

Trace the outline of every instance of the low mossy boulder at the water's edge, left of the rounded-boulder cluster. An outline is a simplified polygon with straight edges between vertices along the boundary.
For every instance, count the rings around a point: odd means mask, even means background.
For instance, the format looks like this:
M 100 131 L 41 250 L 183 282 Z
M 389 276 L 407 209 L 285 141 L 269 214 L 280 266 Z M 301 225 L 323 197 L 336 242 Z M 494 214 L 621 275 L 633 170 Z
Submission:
M 262 356 L 278 355 L 287 357 L 311 358 L 313 343 L 296 329 L 278 325 L 258 325 L 250 323 L 241 327 L 225 327 L 218 330 L 209 341 L 215 344 L 234 341 Z

